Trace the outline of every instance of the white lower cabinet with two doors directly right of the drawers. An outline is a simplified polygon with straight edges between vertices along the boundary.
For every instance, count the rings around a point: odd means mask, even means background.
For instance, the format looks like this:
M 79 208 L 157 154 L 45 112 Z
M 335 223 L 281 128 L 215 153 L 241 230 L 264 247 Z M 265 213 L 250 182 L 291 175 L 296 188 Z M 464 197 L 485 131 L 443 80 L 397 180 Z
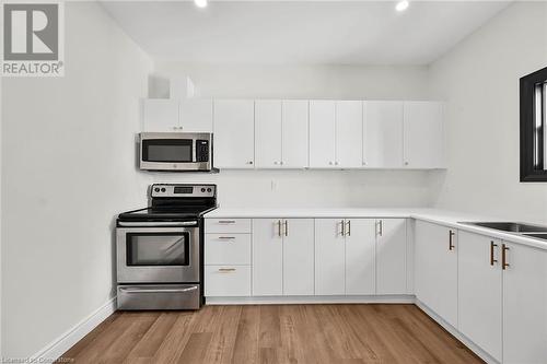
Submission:
M 313 295 L 313 219 L 253 220 L 253 295 Z

